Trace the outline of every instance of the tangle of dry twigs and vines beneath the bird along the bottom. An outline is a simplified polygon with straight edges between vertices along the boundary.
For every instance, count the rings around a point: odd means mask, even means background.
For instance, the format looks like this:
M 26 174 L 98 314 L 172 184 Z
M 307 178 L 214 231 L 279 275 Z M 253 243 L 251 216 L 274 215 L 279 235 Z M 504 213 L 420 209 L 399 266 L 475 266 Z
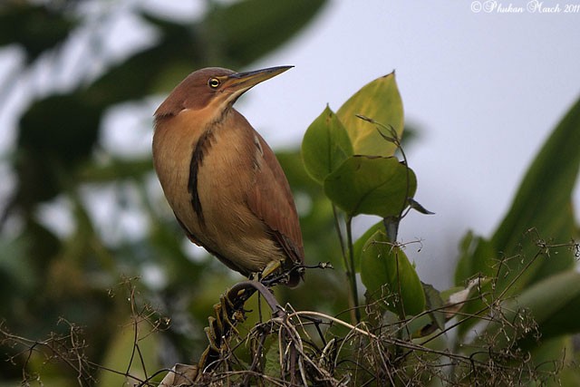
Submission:
M 530 261 L 546 256 L 546 251 L 554 246 L 539 240 L 537 254 Z M 566 246 L 575 249 L 576 254 L 579 251 L 577 244 Z M 498 267 L 516 258 L 503 258 Z M 523 271 L 526 269 L 527 266 Z M 380 302 L 374 302 L 364 309 L 368 320 L 356 325 L 320 312 L 295 311 L 291 305 L 282 307 L 266 286 L 244 281 L 222 297 L 216 317 L 209 320 L 210 345 L 198 365 L 178 364 L 171 370 L 155 372 L 145 369 L 140 342 L 150 334 L 159 334 L 169 322 L 149 305 L 139 305 L 134 279 L 127 279 L 122 285 L 129 294 L 134 333 L 130 365 L 121 371 L 105 371 L 124 376 L 128 385 L 147 387 L 426 385 L 434 379 L 450 386 L 557 381 L 565 353 L 546 364 L 532 362 L 518 340 L 541 340 L 536 322 L 527 310 L 508 308 L 507 290 L 494 293 L 497 279 L 490 280 L 487 290 L 474 286 L 459 305 L 445 305 L 401 321 L 391 318 Z M 266 300 L 271 316 L 242 334 L 238 327 L 246 313 L 244 304 L 256 291 Z M 470 303 L 482 307 L 471 313 L 460 308 Z M 445 313 L 455 321 L 425 335 L 417 322 L 431 313 Z M 472 325 L 469 340 L 453 348 L 443 344 L 446 335 L 455 334 L 468 322 L 477 323 Z M 95 375 L 103 367 L 85 355 L 88 343 L 82 327 L 64 319 L 59 324 L 66 326 L 67 333 L 50 334 L 44 340 L 12 334 L 5 324 L 0 324 L 0 346 L 15 353 L 6 360 L 21 367 L 22 385 L 42 385 L 42 375 L 28 371 L 33 357 L 36 361 L 43 359 L 47 365 L 63 365 L 74 373 L 79 386 L 97 383 Z M 483 329 L 492 324 L 496 329 Z M 411 329 L 413 326 L 416 329 Z M 139 375 L 135 368 L 141 369 Z M 165 380 L 160 382 L 163 375 Z

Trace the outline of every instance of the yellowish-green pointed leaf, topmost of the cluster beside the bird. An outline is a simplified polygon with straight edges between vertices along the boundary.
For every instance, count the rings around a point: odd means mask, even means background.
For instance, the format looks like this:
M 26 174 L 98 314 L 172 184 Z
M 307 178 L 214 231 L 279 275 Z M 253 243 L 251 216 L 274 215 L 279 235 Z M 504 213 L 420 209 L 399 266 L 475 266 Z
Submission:
M 397 147 L 384 140 L 375 125 L 357 118 L 357 114 L 391 126 L 401 139 L 402 101 L 394 72 L 364 85 L 336 112 L 351 137 L 355 154 L 392 156 Z

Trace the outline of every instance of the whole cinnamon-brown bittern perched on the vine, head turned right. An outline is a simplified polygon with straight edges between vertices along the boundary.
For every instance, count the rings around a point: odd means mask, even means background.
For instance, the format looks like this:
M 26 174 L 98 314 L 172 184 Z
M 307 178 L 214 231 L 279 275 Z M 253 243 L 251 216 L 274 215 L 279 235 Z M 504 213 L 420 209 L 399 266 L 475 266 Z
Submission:
M 190 73 L 155 111 L 153 161 L 193 243 L 244 276 L 286 274 L 295 286 L 304 248 L 292 192 L 274 152 L 233 107 L 291 67 Z

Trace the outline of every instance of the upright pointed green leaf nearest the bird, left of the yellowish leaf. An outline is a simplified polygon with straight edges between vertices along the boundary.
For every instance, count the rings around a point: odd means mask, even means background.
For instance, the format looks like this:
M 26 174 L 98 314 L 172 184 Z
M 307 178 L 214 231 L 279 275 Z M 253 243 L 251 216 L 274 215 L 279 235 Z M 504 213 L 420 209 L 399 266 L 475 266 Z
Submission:
M 323 184 L 324 178 L 352 155 L 353 144 L 343 123 L 326 106 L 304 133 L 304 168 L 315 181 Z

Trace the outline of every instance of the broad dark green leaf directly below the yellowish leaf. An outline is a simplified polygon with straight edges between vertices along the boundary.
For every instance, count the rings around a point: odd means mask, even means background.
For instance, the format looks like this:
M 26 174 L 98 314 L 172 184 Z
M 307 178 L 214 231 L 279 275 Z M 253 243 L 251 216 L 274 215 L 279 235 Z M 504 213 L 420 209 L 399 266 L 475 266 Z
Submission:
M 324 193 L 350 217 L 399 216 L 415 194 L 417 179 L 395 158 L 353 156 L 324 179 Z

